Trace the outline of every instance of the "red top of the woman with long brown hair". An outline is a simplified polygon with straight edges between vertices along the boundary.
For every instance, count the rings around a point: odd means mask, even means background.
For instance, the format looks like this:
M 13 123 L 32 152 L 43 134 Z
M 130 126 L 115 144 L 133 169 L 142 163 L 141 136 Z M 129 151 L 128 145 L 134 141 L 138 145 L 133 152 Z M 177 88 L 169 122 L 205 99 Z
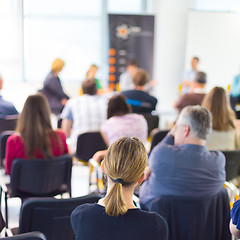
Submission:
M 50 136 L 52 153 L 54 157 L 68 153 L 66 136 L 64 132 L 57 130 L 56 133 L 60 138 L 61 144 L 59 144 L 57 139 Z M 7 140 L 5 167 L 8 175 L 10 175 L 11 172 L 12 162 L 16 158 L 28 159 L 25 152 L 25 145 L 21 136 L 17 133 L 11 135 Z M 44 158 L 42 151 L 35 151 L 35 158 Z

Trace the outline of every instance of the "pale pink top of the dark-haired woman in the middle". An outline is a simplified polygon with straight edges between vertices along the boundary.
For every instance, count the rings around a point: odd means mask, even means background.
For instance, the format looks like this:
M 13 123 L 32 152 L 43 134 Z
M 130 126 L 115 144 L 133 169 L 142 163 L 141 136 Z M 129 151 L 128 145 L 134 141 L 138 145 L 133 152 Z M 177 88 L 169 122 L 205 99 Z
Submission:
M 128 113 L 109 118 L 103 123 L 101 131 L 106 135 L 109 146 L 121 137 L 136 137 L 145 143 L 148 126 L 142 115 Z

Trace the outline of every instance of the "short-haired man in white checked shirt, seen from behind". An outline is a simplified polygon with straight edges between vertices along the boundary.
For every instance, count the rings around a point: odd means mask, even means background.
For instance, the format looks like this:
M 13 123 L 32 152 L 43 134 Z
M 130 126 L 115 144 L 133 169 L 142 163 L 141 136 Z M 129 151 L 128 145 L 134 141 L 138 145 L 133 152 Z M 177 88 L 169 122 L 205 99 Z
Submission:
M 82 90 L 83 95 L 70 99 L 61 114 L 62 129 L 67 137 L 71 136 L 73 151 L 76 148 L 78 135 L 100 131 L 107 115 L 107 98 L 97 95 L 95 80 L 84 80 Z

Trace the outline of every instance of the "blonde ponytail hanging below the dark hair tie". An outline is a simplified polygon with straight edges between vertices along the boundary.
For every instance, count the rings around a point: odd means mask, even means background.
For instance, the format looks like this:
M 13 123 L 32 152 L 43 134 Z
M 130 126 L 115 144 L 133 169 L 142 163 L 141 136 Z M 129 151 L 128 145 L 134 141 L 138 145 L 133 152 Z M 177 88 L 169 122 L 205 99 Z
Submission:
M 106 214 L 117 217 L 127 212 L 128 208 L 123 198 L 122 184 L 115 182 L 107 196 L 104 198 Z

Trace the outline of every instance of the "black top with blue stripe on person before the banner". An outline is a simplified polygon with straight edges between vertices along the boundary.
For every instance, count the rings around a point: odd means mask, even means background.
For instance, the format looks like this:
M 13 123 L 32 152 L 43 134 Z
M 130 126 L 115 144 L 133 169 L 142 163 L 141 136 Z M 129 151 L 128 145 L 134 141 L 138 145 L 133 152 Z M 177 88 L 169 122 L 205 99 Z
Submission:
M 157 99 L 140 90 L 123 91 L 127 104 L 132 106 L 134 113 L 151 113 L 156 108 Z

